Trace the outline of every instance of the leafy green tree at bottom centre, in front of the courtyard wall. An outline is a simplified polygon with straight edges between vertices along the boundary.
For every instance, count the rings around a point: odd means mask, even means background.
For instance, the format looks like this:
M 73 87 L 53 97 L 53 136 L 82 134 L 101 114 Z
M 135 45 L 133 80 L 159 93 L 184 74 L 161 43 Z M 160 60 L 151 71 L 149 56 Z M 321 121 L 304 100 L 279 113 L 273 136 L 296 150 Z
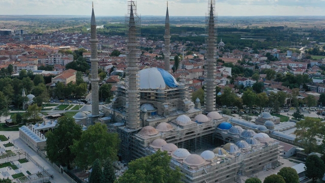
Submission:
M 179 167 L 175 170 L 169 166 L 171 156 L 167 151 L 136 159 L 129 163 L 129 169 L 116 183 L 181 183 L 182 174 Z

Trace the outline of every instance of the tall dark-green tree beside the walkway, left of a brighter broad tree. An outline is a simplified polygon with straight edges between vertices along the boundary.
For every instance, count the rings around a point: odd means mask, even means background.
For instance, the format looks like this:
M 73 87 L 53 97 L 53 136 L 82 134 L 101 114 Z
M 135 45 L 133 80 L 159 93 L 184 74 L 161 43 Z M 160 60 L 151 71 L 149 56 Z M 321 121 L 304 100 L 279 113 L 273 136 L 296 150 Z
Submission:
M 71 152 L 74 140 L 80 140 L 81 127 L 74 118 L 63 116 L 58 119 L 58 127 L 45 134 L 47 157 L 51 162 L 67 165 L 73 162 L 75 155 Z

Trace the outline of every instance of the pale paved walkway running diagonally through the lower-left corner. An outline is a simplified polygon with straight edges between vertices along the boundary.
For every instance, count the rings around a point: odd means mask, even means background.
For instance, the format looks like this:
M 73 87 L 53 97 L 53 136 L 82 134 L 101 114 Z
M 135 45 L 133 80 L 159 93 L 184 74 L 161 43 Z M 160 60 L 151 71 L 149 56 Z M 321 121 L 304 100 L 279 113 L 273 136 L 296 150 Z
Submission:
M 49 165 L 42 157 L 40 157 L 34 150 L 27 146 L 22 140 L 19 139 L 19 132 L 1 132 L 1 134 L 6 137 L 10 136 L 10 141 L 15 144 L 18 149 L 24 150 L 28 153 L 39 165 L 44 166 L 49 174 L 54 176 L 54 179 L 51 180 L 51 183 L 68 183 L 69 181 L 63 177 L 63 174 L 60 174 L 52 166 Z

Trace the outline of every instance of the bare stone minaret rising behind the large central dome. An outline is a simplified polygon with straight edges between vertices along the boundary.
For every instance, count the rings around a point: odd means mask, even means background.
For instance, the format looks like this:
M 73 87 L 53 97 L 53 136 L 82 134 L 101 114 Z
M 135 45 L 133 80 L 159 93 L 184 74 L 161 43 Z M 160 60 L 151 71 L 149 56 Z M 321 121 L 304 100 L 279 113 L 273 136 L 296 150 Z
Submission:
M 168 14 L 168 1 L 167 1 L 167 11 L 166 11 L 166 19 L 165 19 L 165 34 L 163 35 L 165 39 L 165 50 L 163 51 L 163 55 L 165 56 L 165 71 L 169 72 L 169 59 L 170 59 L 170 28 L 169 28 L 169 14 Z

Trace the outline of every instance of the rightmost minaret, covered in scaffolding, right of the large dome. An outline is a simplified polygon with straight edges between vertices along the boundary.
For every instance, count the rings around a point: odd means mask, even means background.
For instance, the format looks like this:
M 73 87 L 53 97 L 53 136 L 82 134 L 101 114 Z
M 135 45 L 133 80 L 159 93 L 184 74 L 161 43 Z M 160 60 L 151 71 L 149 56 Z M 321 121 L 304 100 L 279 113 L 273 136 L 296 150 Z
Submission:
M 209 1 L 210 2 L 210 1 Z M 214 58 L 214 43 L 215 43 L 215 30 L 214 30 L 214 15 L 213 15 L 213 5 L 214 3 L 209 3 L 210 5 L 210 16 L 209 16 L 209 23 L 208 23 L 208 38 L 207 38 L 207 45 L 208 45 L 208 51 L 207 51 L 207 75 L 205 77 L 205 110 L 206 112 L 214 111 L 215 108 L 215 77 L 214 72 L 216 69 L 215 66 L 215 58 Z

